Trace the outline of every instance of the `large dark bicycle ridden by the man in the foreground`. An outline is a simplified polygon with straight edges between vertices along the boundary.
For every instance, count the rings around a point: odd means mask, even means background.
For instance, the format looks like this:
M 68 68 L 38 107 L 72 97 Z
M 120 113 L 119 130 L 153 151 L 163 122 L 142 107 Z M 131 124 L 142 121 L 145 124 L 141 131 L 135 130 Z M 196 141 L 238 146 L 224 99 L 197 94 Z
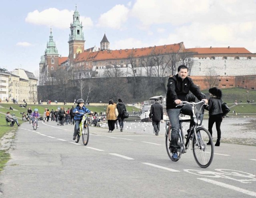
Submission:
M 169 158 L 172 161 L 178 161 L 181 155 L 183 153 L 186 153 L 186 150 L 189 147 L 190 140 L 192 140 L 192 152 L 194 155 L 194 159 L 196 160 L 196 163 L 200 167 L 206 168 L 210 166 L 210 164 L 212 163 L 213 155 L 214 155 L 214 144 L 213 144 L 212 136 L 210 135 L 210 132 L 204 126 L 199 126 L 200 120 L 196 118 L 196 105 L 200 103 L 204 103 L 204 101 L 200 101 L 197 103 L 183 101 L 181 105 L 177 105 L 177 106 L 184 106 L 185 104 L 190 104 L 192 106 L 192 113 L 193 113 L 192 119 L 184 119 L 184 120 L 180 119 L 180 131 L 179 131 L 179 139 L 178 139 L 178 145 L 180 145 L 180 148 L 178 148 L 178 151 L 177 151 L 178 159 L 172 158 L 172 153 L 168 145 L 168 143 L 170 143 L 170 140 L 171 140 L 170 122 L 166 122 L 166 125 L 168 127 L 166 129 L 166 134 L 165 134 L 165 144 L 166 144 L 166 151 L 168 153 Z M 187 138 L 185 138 L 186 141 L 184 141 L 182 123 L 190 122 L 190 121 L 193 121 L 193 125 L 190 127 L 191 130 L 188 133 Z M 206 144 L 208 142 L 210 142 L 210 145 Z

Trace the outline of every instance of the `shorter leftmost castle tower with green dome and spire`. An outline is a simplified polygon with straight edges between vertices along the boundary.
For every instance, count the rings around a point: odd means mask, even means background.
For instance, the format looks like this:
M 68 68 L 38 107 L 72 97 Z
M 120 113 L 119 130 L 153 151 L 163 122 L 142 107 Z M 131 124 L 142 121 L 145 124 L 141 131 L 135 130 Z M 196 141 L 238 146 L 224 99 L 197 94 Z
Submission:
M 44 51 L 44 59 L 41 57 L 41 62 L 44 62 L 44 65 L 47 67 L 47 76 L 51 76 L 50 73 L 53 73 L 58 69 L 58 49 L 56 47 L 56 44 L 53 40 L 53 35 L 52 35 L 52 28 L 50 31 L 50 39 L 47 42 L 47 47 L 46 50 Z

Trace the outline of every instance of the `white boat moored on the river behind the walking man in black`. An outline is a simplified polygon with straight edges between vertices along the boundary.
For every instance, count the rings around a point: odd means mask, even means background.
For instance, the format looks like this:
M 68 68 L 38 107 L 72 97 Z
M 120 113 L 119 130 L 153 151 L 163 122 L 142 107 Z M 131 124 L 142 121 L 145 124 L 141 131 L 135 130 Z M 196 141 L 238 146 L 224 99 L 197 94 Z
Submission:
M 142 106 L 142 114 L 140 114 L 140 120 L 141 122 L 151 122 L 152 120 L 149 118 L 149 113 L 150 113 L 150 108 L 152 104 L 155 104 L 155 99 L 158 99 L 158 103 L 162 105 L 163 107 L 163 111 L 164 111 L 164 115 L 163 115 L 163 120 L 164 121 L 168 121 L 169 117 L 168 114 L 166 112 L 166 97 L 165 96 L 153 96 L 151 98 L 149 98 L 149 100 L 145 100 L 143 102 L 143 106 Z M 188 115 L 183 115 L 180 114 L 180 119 L 184 120 L 184 119 L 189 119 L 190 116 Z

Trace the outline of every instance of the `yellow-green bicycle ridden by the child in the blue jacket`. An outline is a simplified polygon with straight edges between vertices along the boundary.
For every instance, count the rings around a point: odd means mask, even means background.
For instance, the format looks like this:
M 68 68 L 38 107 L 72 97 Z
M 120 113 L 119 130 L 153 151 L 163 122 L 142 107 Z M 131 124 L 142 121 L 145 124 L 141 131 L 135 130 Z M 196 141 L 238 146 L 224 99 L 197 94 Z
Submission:
M 83 114 L 82 112 L 80 112 L 79 114 Z M 88 114 L 88 113 L 87 113 Z M 80 125 L 79 125 L 79 129 L 78 129 L 78 133 L 76 135 L 76 143 L 79 142 L 80 140 L 80 136 L 82 135 L 82 140 L 83 140 L 83 143 L 84 145 L 86 146 L 89 142 L 89 126 L 88 124 L 86 123 L 86 120 L 87 120 L 87 116 L 86 114 L 83 114 L 83 118 L 82 118 L 82 121 L 80 122 Z M 91 115 L 91 114 L 88 114 L 88 115 Z

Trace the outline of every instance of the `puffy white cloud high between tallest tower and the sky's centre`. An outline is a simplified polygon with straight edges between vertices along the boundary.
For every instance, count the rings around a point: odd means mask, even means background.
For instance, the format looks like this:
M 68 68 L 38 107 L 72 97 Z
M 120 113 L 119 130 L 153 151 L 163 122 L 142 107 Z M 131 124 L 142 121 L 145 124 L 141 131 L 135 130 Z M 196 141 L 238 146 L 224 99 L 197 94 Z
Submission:
M 122 29 L 128 19 L 129 9 L 124 5 L 116 5 L 108 12 L 101 14 L 98 19 L 98 26 Z

